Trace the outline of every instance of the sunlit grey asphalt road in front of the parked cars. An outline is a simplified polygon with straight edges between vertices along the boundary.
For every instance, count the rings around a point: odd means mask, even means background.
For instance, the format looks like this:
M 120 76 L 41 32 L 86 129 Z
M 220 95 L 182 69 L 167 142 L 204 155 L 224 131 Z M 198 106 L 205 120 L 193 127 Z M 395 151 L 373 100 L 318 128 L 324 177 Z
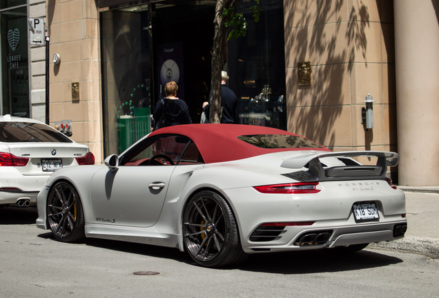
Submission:
M 207 269 L 174 248 L 64 244 L 36 218 L 35 209 L 0 208 L 0 297 L 439 297 L 439 260 L 425 255 L 276 253 Z

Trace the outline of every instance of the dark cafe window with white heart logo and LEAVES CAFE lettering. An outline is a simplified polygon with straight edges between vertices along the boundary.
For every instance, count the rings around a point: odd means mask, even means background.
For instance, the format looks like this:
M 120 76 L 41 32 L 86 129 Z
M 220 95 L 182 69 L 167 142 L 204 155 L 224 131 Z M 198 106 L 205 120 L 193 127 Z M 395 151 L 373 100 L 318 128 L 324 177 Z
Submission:
M 26 7 L 0 12 L 3 115 L 30 117 L 27 23 Z

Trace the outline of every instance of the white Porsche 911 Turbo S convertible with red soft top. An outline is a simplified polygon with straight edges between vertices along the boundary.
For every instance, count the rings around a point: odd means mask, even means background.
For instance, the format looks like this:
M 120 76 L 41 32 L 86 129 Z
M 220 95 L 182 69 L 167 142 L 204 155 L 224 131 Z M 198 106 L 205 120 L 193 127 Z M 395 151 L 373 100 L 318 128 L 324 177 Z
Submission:
M 57 170 L 39 192 L 37 226 L 59 241 L 175 247 L 206 267 L 260 252 L 355 252 L 407 230 L 404 193 L 386 177 L 394 152 L 191 124 L 156 130 L 104 163 Z

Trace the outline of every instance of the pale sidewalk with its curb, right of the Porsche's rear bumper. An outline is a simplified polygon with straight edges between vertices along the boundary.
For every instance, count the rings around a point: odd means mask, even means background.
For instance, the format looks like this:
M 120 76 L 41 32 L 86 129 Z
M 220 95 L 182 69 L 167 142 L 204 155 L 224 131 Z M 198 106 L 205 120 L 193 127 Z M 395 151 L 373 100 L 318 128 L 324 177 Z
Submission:
M 384 248 L 414 252 L 439 259 L 439 186 L 398 186 L 406 199 L 407 232 L 400 240 L 369 244 Z

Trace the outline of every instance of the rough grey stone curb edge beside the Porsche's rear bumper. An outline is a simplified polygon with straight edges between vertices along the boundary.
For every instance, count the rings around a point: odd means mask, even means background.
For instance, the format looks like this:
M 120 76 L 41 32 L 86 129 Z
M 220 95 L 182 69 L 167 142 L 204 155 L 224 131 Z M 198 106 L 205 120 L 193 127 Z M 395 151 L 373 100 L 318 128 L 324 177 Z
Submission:
M 439 240 L 429 238 L 417 238 L 406 236 L 403 239 L 369 244 L 368 248 L 378 248 L 384 250 L 396 250 L 399 252 L 411 252 L 439 259 Z

